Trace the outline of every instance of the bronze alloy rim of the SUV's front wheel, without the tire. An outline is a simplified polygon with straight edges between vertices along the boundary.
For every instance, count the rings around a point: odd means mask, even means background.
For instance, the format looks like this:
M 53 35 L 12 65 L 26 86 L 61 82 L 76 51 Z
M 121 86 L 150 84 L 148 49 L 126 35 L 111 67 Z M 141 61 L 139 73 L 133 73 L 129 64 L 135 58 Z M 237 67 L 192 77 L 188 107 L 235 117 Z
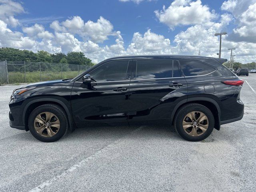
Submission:
M 51 112 L 42 112 L 36 116 L 34 128 L 40 136 L 52 137 L 60 130 L 60 120 Z

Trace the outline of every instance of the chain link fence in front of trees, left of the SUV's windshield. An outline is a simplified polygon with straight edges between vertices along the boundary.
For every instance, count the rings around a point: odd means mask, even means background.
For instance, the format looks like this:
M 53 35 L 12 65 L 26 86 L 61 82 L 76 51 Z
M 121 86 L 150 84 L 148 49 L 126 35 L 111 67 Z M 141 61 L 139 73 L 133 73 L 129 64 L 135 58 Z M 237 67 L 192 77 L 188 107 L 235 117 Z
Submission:
M 0 84 L 74 78 L 88 68 L 64 63 L 0 61 Z

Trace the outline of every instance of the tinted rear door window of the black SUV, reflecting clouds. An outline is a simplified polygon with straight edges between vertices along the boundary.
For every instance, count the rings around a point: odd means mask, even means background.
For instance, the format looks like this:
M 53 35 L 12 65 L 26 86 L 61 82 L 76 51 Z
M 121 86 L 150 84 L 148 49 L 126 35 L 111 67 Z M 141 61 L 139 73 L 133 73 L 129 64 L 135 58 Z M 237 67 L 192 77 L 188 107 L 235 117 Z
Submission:
M 174 71 L 172 72 L 172 68 Z M 178 63 L 172 60 L 138 60 L 136 79 L 180 77 Z

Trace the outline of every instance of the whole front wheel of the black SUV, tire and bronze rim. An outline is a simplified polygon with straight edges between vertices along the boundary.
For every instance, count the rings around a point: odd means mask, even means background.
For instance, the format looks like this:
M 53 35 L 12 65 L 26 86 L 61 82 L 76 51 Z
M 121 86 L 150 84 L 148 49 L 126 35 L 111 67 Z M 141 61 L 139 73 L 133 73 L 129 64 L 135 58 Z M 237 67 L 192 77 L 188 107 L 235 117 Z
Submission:
M 36 139 L 42 142 L 54 142 L 67 132 L 68 119 L 60 106 L 45 104 L 31 112 L 28 128 Z

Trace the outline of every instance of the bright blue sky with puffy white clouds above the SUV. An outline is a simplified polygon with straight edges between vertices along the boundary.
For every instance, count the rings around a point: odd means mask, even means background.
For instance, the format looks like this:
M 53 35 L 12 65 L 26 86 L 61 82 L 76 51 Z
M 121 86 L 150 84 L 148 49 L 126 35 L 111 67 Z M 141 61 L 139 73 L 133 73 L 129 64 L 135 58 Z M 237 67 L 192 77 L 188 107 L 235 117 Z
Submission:
M 182 54 L 256 61 L 256 0 L 0 0 L 0 47 L 93 60 Z

